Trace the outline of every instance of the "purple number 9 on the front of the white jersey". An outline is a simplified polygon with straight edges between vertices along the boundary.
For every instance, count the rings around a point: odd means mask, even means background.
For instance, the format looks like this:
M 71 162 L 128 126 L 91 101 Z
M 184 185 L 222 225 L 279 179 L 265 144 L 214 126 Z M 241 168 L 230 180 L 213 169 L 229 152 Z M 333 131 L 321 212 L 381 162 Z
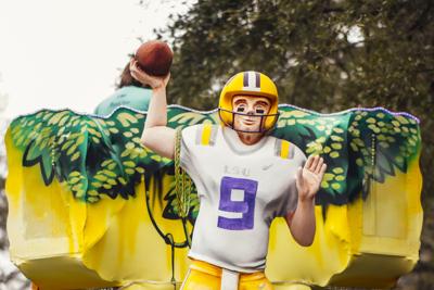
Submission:
M 255 219 L 255 198 L 257 181 L 244 178 L 233 178 L 225 176 L 220 185 L 220 203 L 218 209 L 229 213 L 241 213 L 242 217 L 229 218 L 219 216 L 217 226 L 224 229 L 240 230 L 252 229 Z M 231 199 L 232 190 L 244 191 L 242 201 Z

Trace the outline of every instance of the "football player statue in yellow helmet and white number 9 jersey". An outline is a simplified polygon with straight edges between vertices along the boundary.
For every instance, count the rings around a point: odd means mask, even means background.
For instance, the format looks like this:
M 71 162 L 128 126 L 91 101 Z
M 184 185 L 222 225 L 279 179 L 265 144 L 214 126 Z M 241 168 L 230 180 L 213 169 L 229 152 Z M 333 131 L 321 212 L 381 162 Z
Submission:
M 174 159 L 176 129 L 167 127 L 166 85 L 130 63 L 131 75 L 153 89 L 142 142 Z M 314 241 L 315 194 L 326 164 L 267 133 L 278 119 L 278 91 L 257 72 L 234 75 L 219 100 L 221 125 L 193 125 L 180 136 L 180 164 L 200 198 L 181 289 L 272 289 L 264 274 L 271 222 L 285 218 L 301 245 Z

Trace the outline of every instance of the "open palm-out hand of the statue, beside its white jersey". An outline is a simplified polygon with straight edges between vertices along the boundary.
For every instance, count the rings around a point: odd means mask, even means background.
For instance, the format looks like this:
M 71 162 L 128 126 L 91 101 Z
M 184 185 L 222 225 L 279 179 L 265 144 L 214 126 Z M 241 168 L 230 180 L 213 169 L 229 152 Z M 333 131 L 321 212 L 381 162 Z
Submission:
M 296 186 L 299 201 L 312 201 L 317 194 L 326 173 L 327 164 L 318 155 L 310 155 L 305 166 L 298 167 Z

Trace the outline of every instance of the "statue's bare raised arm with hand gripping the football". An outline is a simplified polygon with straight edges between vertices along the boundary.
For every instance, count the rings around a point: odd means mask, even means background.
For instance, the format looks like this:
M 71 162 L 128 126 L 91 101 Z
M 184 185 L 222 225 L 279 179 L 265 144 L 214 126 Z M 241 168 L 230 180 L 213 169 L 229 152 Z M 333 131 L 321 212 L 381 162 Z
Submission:
M 166 86 L 170 74 L 166 77 L 150 76 L 138 67 L 136 60 L 131 60 L 130 71 L 133 78 L 152 88 L 152 98 L 141 138 L 142 143 L 164 157 L 174 159 L 175 129 L 167 127 L 166 100 Z

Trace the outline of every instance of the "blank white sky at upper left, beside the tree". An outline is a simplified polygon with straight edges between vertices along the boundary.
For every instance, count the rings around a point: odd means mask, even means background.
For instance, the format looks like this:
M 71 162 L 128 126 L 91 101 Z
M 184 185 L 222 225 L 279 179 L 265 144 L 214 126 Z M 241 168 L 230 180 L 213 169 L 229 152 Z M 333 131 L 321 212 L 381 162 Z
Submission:
M 194 0 L 188 1 L 192 3 Z M 178 0 L 0 0 L 0 93 L 5 115 L 42 108 L 92 112 L 114 91 L 119 70 L 153 39 Z M 4 105 L 0 101 L 0 108 Z

